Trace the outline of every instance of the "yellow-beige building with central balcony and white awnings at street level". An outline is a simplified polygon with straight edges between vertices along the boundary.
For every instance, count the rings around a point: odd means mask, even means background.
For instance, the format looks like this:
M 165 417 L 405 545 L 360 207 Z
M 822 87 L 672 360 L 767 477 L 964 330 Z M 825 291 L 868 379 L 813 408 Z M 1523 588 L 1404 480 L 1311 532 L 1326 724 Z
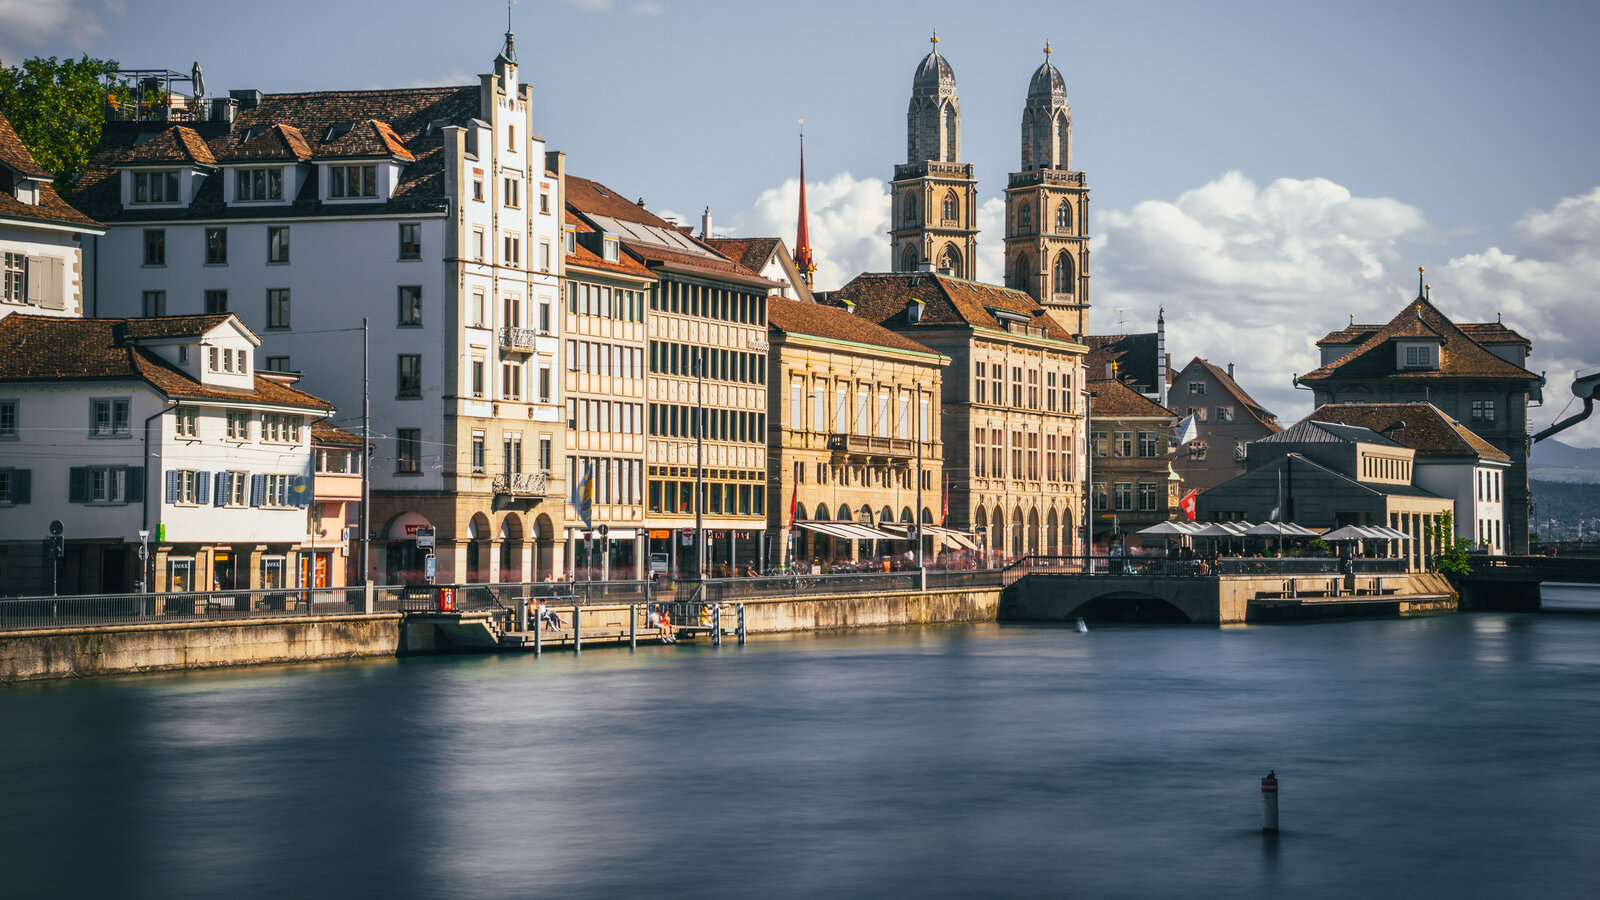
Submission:
M 952 540 L 938 528 L 949 357 L 846 309 L 781 298 L 768 301 L 768 562 L 902 557 L 918 520 L 933 560 Z

